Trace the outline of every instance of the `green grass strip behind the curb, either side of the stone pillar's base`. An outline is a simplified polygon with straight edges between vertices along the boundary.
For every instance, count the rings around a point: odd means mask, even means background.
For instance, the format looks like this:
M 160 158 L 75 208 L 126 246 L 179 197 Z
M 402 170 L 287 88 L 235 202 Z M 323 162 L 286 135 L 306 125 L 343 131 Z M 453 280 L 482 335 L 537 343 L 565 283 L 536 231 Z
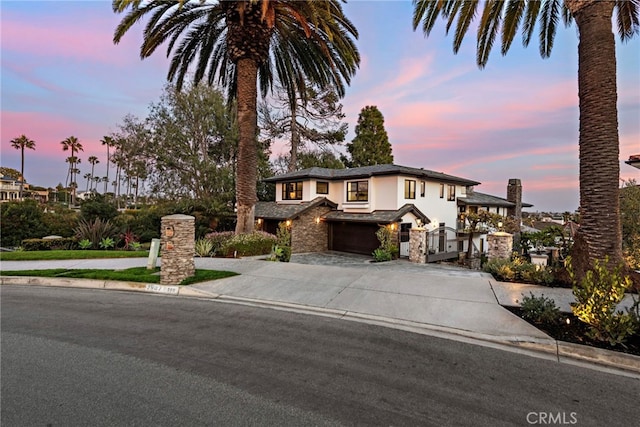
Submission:
M 133 267 L 125 270 L 66 269 L 0 271 L 2 276 L 29 277 L 65 277 L 74 279 L 116 280 L 122 282 L 160 283 L 160 268 L 148 270 L 146 267 Z M 196 270 L 195 276 L 187 277 L 181 286 L 209 280 L 236 276 L 231 271 Z

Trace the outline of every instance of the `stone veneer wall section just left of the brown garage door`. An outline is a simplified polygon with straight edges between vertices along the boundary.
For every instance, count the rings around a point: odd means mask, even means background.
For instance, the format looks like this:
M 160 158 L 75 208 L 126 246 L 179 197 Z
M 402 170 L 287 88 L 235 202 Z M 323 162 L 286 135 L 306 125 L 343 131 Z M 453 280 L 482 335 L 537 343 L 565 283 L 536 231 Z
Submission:
M 329 225 L 316 218 L 331 211 L 329 206 L 316 206 L 305 211 L 291 225 L 291 252 L 322 252 L 329 249 Z

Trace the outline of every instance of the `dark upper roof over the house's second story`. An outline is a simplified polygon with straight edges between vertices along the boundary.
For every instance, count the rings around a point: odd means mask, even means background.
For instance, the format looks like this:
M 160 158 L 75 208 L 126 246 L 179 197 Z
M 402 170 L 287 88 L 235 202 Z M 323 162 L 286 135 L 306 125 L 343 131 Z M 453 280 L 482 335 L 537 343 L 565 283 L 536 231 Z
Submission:
M 288 172 L 281 175 L 272 176 L 266 178 L 264 182 L 279 182 L 279 181 L 294 181 L 304 179 L 324 179 L 327 181 L 338 181 L 345 179 L 357 179 L 368 178 L 371 176 L 384 176 L 384 175 L 408 175 L 416 178 L 448 182 L 452 184 L 462 185 L 478 185 L 477 181 L 461 178 L 458 176 L 447 175 L 442 172 L 434 172 L 422 168 L 412 168 L 408 166 L 400 165 L 373 165 L 363 166 L 359 168 L 348 169 L 328 169 L 328 168 L 308 168 L 299 171 Z

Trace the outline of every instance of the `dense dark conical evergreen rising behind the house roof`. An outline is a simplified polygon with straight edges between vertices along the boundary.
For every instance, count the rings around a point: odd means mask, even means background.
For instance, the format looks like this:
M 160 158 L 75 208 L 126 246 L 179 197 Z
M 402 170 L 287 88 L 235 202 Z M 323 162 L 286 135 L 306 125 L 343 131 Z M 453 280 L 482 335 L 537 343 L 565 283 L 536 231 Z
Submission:
M 393 163 L 393 154 L 384 117 L 378 107 L 366 106 L 360 111 L 356 136 L 347 144 L 351 159 L 342 156 L 342 162 L 350 168 Z

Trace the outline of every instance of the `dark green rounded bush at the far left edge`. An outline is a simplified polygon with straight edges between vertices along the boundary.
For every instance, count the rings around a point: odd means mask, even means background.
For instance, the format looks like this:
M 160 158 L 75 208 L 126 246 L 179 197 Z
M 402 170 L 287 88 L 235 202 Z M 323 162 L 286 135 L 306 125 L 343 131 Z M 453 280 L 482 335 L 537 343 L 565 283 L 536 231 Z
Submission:
M 49 234 L 42 222 L 42 209 L 35 200 L 0 203 L 0 245 L 19 246 L 24 239 Z

